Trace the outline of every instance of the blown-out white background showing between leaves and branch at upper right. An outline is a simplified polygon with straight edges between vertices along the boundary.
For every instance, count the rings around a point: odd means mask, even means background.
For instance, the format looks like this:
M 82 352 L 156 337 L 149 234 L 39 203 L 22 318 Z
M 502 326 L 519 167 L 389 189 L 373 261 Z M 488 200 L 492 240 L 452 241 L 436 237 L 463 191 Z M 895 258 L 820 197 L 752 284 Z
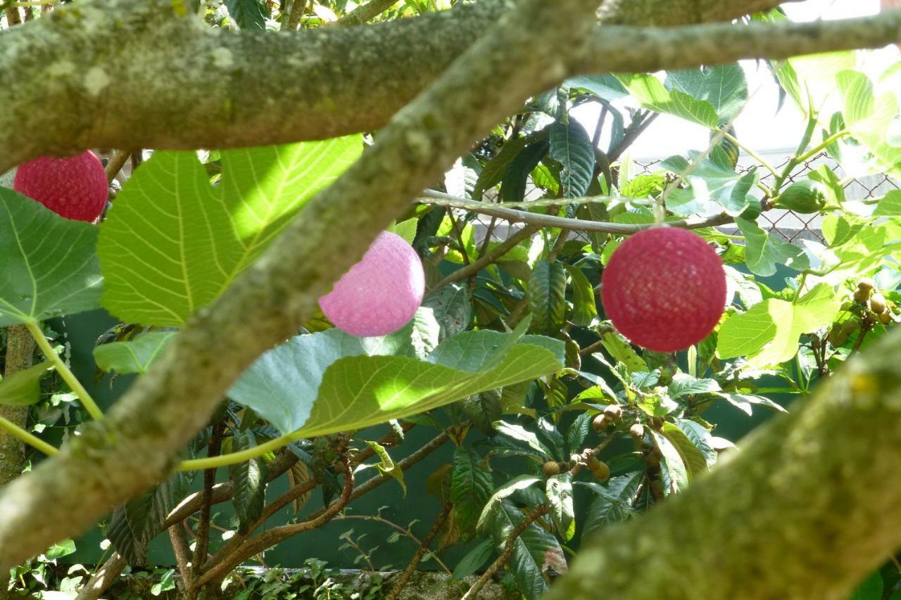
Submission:
M 805 2 L 783 5 L 790 19 L 797 22 L 816 19 L 842 19 L 853 16 L 876 14 L 879 0 L 806 0 Z M 872 72 L 881 72 L 888 64 L 899 59 L 899 51 L 892 46 L 868 55 L 862 67 Z M 778 107 L 778 86 L 765 65 L 757 66 L 753 60 L 742 61 L 748 79 L 751 100 L 745 106 L 735 124 L 738 137 L 743 143 L 761 153 L 781 153 L 791 148 L 804 131 L 804 120 L 790 98 L 781 110 Z M 594 131 L 598 107 L 589 103 L 579 107 L 574 115 L 586 129 Z M 686 150 L 704 150 L 709 132 L 700 125 L 687 123 L 678 117 L 661 114 L 657 121 L 633 144 L 633 159 L 661 159 L 673 154 L 683 154 Z M 605 142 L 602 141 L 602 147 Z

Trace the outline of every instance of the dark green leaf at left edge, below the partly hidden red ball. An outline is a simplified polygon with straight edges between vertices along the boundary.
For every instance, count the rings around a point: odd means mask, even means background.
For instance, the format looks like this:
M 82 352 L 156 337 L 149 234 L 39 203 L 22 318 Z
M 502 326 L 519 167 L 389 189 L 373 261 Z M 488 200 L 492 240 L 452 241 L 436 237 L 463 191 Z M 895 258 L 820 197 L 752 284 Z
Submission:
M 97 228 L 0 187 L 0 327 L 100 306 Z

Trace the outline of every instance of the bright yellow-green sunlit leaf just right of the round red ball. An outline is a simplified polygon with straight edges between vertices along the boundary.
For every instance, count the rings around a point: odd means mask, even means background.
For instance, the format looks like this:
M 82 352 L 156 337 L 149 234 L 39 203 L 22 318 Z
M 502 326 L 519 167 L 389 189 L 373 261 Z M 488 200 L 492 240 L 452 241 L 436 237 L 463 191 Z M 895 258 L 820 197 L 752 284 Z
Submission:
M 841 308 L 832 286 L 818 284 L 796 302 L 769 298 L 723 325 L 716 342 L 721 359 L 747 356 L 753 365 L 769 365 L 792 359 L 798 337 L 833 322 Z

